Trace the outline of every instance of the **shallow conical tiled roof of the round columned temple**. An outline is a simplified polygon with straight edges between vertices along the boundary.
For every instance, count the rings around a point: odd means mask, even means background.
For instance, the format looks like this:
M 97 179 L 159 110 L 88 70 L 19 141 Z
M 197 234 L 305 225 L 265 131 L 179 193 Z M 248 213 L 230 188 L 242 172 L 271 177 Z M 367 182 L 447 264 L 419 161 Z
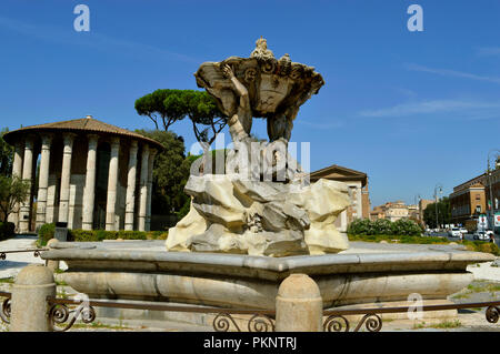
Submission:
M 46 124 L 37 124 L 30 127 L 23 127 L 21 129 L 17 129 L 10 131 L 3 135 L 3 139 L 9 143 L 13 144 L 19 136 L 29 134 L 29 133 L 41 133 L 41 132 L 51 132 L 51 133 L 60 133 L 60 132 L 74 132 L 74 133 L 96 133 L 96 134 L 109 134 L 109 135 L 120 135 L 127 138 L 134 138 L 141 140 L 143 142 L 148 142 L 156 148 L 163 149 L 163 145 L 158 141 L 141 135 L 139 133 L 132 132 L 130 130 L 119 128 L 116 125 L 111 125 L 104 122 L 101 122 L 97 119 L 91 118 L 90 115 L 87 118 L 72 119 L 67 121 L 59 121 L 53 123 Z

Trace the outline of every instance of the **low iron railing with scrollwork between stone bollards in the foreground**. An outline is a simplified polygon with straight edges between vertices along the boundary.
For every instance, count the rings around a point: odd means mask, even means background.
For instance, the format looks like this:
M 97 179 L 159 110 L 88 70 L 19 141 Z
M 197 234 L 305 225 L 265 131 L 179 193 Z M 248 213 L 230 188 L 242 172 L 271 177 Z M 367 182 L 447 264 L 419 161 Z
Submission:
M 11 294 L 0 292 L 0 297 L 7 297 L 2 302 L 0 309 L 0 317 L 3 322 L 9 323 L 10 320 L 10 299 Z M 80 317 L 83 323 L 92 323 L 96 320 L 97 307 L 112 309 L 132 309 L 149 311 L 169 311 L 169 312 L 187 312 L 187 313 L 207 313 L 216 314 L 212 321 L 212 327 L 216 332 L 228 332 L 231 330 L 242 332 L 242 327 L 232 315 L 251 315 L 247 323 L 249 332 L 274 332 L 276 330 L 276 312 L 264 310 L 236 310 L 220 309 L 209 306 L 181 306 L 170 305 L 168 303 L 143 304 L 134 302 L 116 302 L 89 300 L 87 303 L 70 299 L 59 299 L 54 296 L 47 297 L 49 303 L 49 318 L 53 331 L 64 332 L 72 327 L 74 322 Z M 70 310 L 69 306 L 77 306 Z M 478 302 L 464 304 L 446 304 L 446 305 L 423 305 L 419 311 L 443 311 L 443 310 L 461 310 L 461 309 L 483 309 L 486 310 L 486 320 L 489 323 L 497 323 L 500 317 L 500 301 Z M 324 332 L 349 332 L 351 328 L 350 321 L 347 316 L 362 315 L 352 332 L 358 332 L 364 325 L 369 332 L 379 332 L 382 328 L 381 314 L 384 313 L 404 313 L 412 310 L 412 306 L 383 307 L 383 309 L 356 309 L 356 310 L 328 310 L 323 311 L 323 331 Z M 240 318 L 241 320 L 241 318 Z M 247 320 L 244 320 L 247 321 Z M 67 323 L 68 322 L 68 323 Z M 62 327 L 61 327 L 62 325 Z

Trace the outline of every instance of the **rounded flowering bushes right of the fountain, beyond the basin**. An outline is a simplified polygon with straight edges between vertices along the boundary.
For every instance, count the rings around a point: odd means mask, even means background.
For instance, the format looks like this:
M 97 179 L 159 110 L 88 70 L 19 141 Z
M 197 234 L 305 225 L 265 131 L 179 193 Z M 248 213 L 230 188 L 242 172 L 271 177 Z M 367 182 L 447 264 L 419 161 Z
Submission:
M 412 220 L 400 219 L 396 222 L 379 219 L 370 221 L 368 219 L 357 219 L 348 226 L 350 235 L 409 235 L 419 236 L 422 227 Z

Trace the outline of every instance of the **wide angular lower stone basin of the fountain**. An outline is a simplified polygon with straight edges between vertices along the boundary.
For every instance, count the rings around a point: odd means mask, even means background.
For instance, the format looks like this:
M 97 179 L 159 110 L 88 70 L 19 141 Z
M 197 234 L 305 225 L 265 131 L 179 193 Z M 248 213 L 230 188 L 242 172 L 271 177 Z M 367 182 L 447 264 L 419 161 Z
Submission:
M 489 253 L 453 246 L 354 243 L 348 252 L 287 257 L 167 252 L 163 241 L 58 242 L 41 257 L 64 261 L 59 274 L 94 299 L 169 301 L 239 309 L 274 309 L 282 280 L 306 273 L 323 306 L 406 301 L 411 293 L 446 300 L 472 280 L 469 264 Z M 368 249 L 367 249 L 368 247 Z

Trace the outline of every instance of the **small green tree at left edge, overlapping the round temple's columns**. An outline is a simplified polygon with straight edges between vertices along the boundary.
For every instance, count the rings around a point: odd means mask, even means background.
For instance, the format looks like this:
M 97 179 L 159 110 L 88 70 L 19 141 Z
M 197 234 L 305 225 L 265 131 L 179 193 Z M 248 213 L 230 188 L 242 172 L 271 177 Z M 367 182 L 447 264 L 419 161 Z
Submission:
M 4 222 L 7 222 L 16 205 L 29 196 L 30 189 L 30 183 L 18 176 L 11 178 L 0 174 L 0 211 Z

